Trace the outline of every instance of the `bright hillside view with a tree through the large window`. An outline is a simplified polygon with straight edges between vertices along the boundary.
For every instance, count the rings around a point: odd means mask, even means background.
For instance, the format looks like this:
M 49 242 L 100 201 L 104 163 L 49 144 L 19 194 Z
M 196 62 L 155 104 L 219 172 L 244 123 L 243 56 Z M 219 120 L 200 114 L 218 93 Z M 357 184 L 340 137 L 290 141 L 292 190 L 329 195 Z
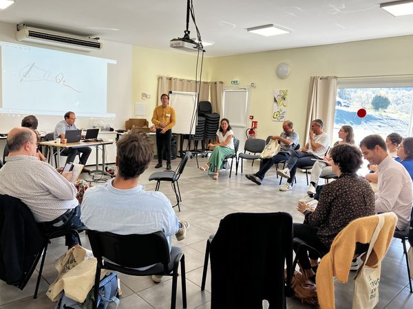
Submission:
M 383 138 L 392 132 L 411 136 L 413 87 L 399 88 L 339 88 L 337 89 L 333 141 L 341 126 L 354 129 L 357 144 L 371 134 Z M 366 117 L 357 116 L 365 108 Z

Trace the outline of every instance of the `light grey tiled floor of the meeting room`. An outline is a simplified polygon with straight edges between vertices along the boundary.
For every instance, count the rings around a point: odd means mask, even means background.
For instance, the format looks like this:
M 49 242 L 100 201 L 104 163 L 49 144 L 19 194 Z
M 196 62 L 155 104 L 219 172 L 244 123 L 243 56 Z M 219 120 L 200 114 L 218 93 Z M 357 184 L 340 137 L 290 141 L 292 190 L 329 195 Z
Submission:
M 205 163 L 206 159 L 201 159 Z M 172 163 L 176 168 L 179 159 Z M 147 179 L 155 171 L 155 162 L 142 176 L 140 183 L 146 190 L 154 190 L 155 183 Z M 244 164 L 244 174 L 257 170 L 258 162 Z M 202 264 L 207 238 L 218 229 L 220 219 L 226 214 L 236 211 L 269 212 L 286 211 L 293 216 L 295 222 L 302 222 L 303 216 L 296 210 L 297 199 L 306 192 L 305 174 L 297 174 L 297 185 L 290 192 L 279 192 L 275 168 L 270 170 L 263 185 L 255 185 L 248 181 L 244 174 L 228 177 L 229 172 L 220 174 L 218 181 L 213 181 L 206 172 L 196 168 L 195 159 L 190 159 L 180 179 L 182 194 L 181 211 L 178 217 L 188 220 L 191 228 L 187 238 L 181 242 L 174 240 L 174 245 L 182 247 L 187 268 L 188 308 L 210 308 L 211 285 L 208 273 L 207 287 L 200 290 Z M 175 196 L 168 183 L 162 183 L 160 191 L 164 192 L 172 204 Z M 89 247 L 87 238 L 83 236 L 83 245 Z M 48 285 L 56 278 L 54 260 L 65 252 L 64 240 L 54 240 L 47 251 L 43 278 L 41 280 L 38 299 L 32 299 L 37 272 L 34 273 L 24 290 L 7 286 L 0 282 L 0 308 L 54 308 L 56 305 L 45 296 Z M 413 294 L 409 293 L 407 271 L 403 250 L 398 240 L 393 240 L 385 256 L 381 270 L 380 302 L 376 308 L 413 308 Z M 353 277 L 351 273 L 348 284 L 335 282 L 335 299 L 337 308 L 351 308 Z M 171 279 L 160 284 L 153 284 L 150 277 L 132 277 L 120 274 L 121 297 L 119 308 L 169 308 L 171 301 Z M 180 283 L 178 282 L 177 308 L 182 308 Z M 114 308 L 111 306 L 111 308 Z M 288 299 L 288 308 L 308 308 L 295 299 Z

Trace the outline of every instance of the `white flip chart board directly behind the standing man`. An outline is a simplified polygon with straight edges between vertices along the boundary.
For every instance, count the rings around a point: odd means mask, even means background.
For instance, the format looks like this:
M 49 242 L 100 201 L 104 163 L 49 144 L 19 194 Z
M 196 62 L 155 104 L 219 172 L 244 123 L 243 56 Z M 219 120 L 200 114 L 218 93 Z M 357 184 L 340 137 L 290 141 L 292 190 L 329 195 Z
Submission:
M 197 97 L 198 93 L 195 92 L 171 91 L 169 93 L 169 105 L 173 107 L 176 115 L 176 125 L 173 126 L 172 133 L 189 134 L 191 118 L 198 112 L 196 111 Z M 191 134 L 195 134 L 195 124 Z

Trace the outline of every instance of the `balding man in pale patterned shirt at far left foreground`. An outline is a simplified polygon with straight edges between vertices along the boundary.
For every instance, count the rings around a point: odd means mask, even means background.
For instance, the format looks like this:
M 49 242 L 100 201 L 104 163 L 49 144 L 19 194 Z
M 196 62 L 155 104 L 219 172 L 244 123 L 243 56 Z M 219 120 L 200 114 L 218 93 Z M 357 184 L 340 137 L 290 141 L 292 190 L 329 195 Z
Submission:
M 30 128 L 13 128 L 7 137 L 9 155 L 0 169 L 0 194 L 19 198 L 45 229 L 82 227 L 81 208 L 76 200 L 76 187 L 68 179 L 72 174 L 59 174 L 52 165 L 36 156 L 36 134 Z M 66 244 L 77 244 L 75 236 Z

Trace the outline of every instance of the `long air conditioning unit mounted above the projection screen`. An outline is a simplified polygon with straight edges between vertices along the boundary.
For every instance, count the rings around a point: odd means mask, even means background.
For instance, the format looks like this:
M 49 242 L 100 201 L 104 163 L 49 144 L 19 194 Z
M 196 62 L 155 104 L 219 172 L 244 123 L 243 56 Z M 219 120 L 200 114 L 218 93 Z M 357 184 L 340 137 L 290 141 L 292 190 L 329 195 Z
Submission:
M 54 45 L 86 52 L 102 48 L 102 43 L 98 41 L 98 38 L 87 38 L 74 34 L 29 27 L 24 23 L 17 25 L 16 39 L 17 41 Z

